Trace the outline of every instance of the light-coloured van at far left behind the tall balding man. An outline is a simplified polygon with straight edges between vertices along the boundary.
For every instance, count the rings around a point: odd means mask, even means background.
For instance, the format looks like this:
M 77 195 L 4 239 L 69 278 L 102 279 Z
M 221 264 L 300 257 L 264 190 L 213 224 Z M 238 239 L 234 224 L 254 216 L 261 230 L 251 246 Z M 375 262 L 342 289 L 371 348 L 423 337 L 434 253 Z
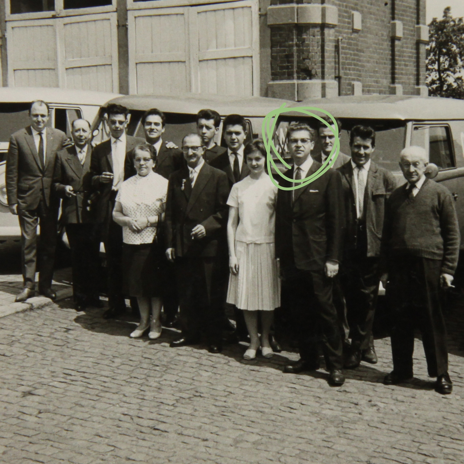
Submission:
M 10 135 L 29 125 L 29 106 L 33 100 L 44 100 L 50 105 L 51 127 L 71 135 L 71 122 L 84 118 L 90 123 L 98 115 L 100 106 L 117 94 L 65 90 L 57 88 L 0 87 L 0 250 L 19 245 L 18 217 L 8 210 L 5 185 L 5 157 Z

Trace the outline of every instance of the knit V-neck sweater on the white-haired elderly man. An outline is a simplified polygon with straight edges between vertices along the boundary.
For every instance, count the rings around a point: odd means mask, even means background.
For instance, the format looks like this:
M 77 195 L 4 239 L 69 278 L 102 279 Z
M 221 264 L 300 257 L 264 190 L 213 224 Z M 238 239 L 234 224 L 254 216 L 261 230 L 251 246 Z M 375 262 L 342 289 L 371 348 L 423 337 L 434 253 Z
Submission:
M 387 201 L 382 258 L 413 255 L 442 261 L 441 272 L 454 274 L 458 265 L 459 227 L 449 190 L 426 179 L 416 196 L 405 184 Z

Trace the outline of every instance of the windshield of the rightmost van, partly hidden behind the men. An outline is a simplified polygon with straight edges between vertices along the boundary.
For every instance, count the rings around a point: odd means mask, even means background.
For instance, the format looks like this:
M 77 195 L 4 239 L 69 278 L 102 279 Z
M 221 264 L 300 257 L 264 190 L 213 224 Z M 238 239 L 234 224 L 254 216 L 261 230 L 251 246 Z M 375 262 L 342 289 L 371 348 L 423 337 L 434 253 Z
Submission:
M 370 126 L 375 130 L 375 150 L 372 154 L 372 160 L 382 168 L 386 168 L 389 171 L 395 172 L 400 171 L 398 165 L 398 159 L 400 151 L 405 146 L 406 139 L 406 122 L 400 120 L 378 120 L 378 119 L 364 119 L 364 120 L 353 120 L 343 119 L 342 120 L 342 131 L 340 135 L 340 151 L 346 155 L 350 155 L 351 151 L 349 148 L 349 131 L 358 124 L 364 126 Z M 291 119 L 288 117 L 279 118 L 277 121 L 275 132 L 274 132 L 274 145 L 277 151 L 284 158 L 289 159 L 290 154 L 288 152 L 285 137 L 287 135 L 287 128 L 292 122 L 305 122 L 309 126 L 316 129 L 317 124 L 314 118 L 295 118 Z M 314 146 L 312 154 L 316 154 L 321 151 L 321 145 L 318 140 Z

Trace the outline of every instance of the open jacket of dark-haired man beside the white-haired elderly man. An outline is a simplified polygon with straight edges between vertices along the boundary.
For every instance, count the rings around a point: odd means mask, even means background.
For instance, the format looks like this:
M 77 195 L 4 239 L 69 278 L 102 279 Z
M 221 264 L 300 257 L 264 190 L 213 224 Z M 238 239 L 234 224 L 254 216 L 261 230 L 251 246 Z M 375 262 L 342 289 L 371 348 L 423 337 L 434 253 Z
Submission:
M 357 242 L 357 214 L 356 193 L 353 179 L 353 166 L 351 160 L 338 169 L 342 174 L 343 202 L 345 206 L 346 230 L 345 244 L 346 252 L 354 250 Z M 366 217 L 367 232 L 367 256 L 380 256 L 380 242 L 385 216 L 385 205 L 388 197 L 396 188 L 393 174 L 387 169 L 380 168 L 371 161 L 367 172 L 367 183 L 364 191 L 364 213 Z

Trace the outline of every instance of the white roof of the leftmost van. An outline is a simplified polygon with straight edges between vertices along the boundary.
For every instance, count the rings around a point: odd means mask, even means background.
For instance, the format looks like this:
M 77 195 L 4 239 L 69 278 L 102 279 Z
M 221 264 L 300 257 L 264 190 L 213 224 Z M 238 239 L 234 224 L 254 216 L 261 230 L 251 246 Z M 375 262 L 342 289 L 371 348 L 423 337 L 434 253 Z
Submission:
M 25 103 L 33 100 L 43 100 L 47 103 L 100 106 L 110 98 L 119 95 L 121 94 L 60 89 L 58 87 L 0 87 L 0 103 Z

